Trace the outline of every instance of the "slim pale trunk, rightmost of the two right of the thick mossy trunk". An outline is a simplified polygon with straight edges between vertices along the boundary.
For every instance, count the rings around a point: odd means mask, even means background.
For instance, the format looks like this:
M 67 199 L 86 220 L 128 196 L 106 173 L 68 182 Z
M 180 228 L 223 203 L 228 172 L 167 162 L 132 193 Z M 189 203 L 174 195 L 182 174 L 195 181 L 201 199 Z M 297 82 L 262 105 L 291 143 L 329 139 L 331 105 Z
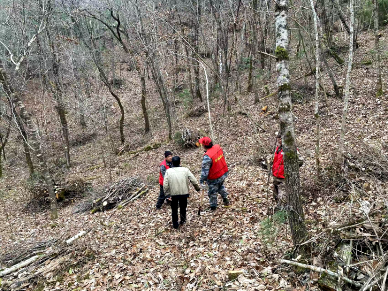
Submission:
M 346 73 L 345 97 L 343 100 L 342 124 L 341 124 L 341 132 L 339 137 L 339 150 L 338 150 L 339 162 L 342 161 L 343 146 L 345 141 L 346 117 L 348 114 L 350 75 L 352 73 L 352 63 L 353 63 L 354 22 L 355 22 L 354 0 L 350 0 L 349 61 L 348 61 L 348 71 Z

